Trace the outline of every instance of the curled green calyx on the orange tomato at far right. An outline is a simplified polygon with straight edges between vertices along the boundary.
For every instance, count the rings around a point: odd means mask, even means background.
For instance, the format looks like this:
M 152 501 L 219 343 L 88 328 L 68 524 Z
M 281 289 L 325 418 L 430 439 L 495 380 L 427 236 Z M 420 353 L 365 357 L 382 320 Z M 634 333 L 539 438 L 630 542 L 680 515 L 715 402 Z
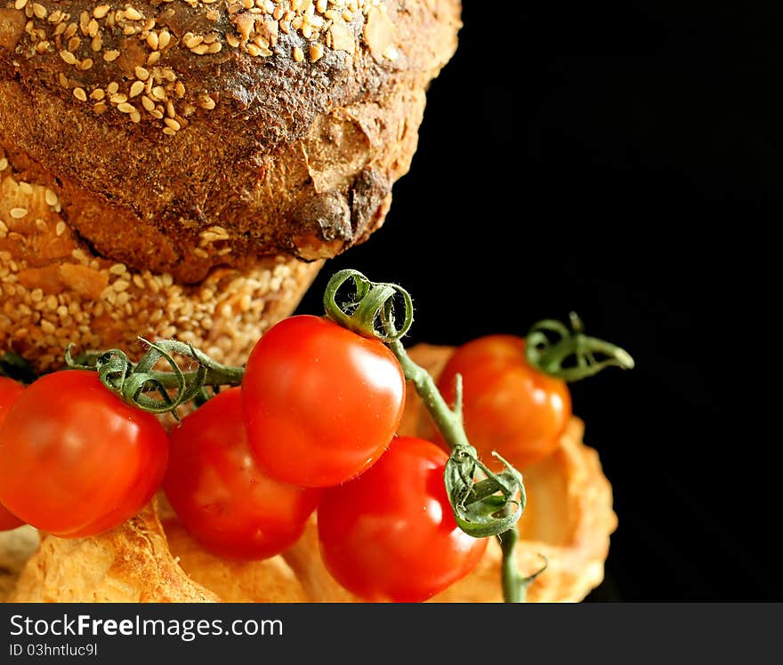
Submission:
M 569 323 L 570 328 L 554 319 L 533 324 L 525 344 L 530 366 L 569 382 L 586 379 L 607 367 L 634 368 L 634 358 L 625 349 L 585 335 L 582 320 L 574 312 Z

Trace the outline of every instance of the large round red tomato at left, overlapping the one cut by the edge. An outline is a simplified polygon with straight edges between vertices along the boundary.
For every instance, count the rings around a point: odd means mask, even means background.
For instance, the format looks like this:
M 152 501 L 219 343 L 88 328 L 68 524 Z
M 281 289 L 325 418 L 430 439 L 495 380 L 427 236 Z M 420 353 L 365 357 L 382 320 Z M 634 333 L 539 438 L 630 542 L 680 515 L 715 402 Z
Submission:
M 0 501 L 44 532 L 101 533 L 152 498 L 167 458 L 157 418 L 126 405 L 97 374 L 47 374 L 0 428 Z

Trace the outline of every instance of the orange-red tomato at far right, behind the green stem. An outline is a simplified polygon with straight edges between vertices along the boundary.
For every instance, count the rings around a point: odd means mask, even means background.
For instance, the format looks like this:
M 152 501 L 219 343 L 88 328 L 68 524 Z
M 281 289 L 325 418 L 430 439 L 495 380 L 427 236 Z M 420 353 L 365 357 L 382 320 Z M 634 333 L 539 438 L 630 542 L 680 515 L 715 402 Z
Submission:
M 456 349 L 438 380 L 449 404 L 457 373 L 463 377 L 465 432 L 490 469 L 503 467 L 493 450 L 525 469 L 558 448 L 571 417 L 569 389 L 528 364 L 523 339 L 490 335 Z

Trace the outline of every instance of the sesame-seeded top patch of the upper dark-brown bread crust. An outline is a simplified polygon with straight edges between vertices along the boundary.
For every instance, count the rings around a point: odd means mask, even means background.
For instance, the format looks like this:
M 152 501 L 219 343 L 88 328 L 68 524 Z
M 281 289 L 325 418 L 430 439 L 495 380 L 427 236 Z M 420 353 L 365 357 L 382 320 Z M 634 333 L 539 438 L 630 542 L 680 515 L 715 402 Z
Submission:
M 215 68 L 247 57 L 307 67 L 330 52 L 351 58 L 362 38 L 376 60 L 398 56 L 382 0 L 96 2 L 92 11 L 66 0 L 3 3 L 5 11 L 24 14 L 16 54 L 33 66 L 61 60 L 56 81 L 71 100 L 97 116 L 157 126 L 167 136 L 220 101 L 219 90 L 183 80 L 190 56 L 214 58 Z M 330 66 L 340 62 L 332 59 Z

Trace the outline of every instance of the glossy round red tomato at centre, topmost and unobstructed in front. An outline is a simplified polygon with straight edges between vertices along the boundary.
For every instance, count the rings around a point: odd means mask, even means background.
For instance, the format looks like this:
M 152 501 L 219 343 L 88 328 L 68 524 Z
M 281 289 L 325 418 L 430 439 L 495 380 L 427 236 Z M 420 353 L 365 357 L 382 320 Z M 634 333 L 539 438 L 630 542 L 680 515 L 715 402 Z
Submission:
M 382 342 L 318 316 L 291 316 L 247 360 L 247 438 L 271 477 L 326 487 L 368 469 L 394 436 L 405 379 Z

